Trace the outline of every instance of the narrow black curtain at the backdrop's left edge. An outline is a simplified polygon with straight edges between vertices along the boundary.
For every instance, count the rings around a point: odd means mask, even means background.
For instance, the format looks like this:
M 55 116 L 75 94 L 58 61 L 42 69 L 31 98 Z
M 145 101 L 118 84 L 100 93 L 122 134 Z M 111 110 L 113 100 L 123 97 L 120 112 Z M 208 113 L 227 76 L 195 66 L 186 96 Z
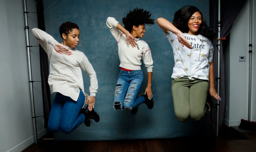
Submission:
M 38 28 L 45 31 L 44 9 L 43 9 L 42 0 L 37 0 L 37 20 L 38 20 Z M 39 46 L 39 54 L 40 54 L 41 83 L 42 83 L 42 96 L 43 96 L 44 128 L 47 128 L 50 108 L 51 108 L 50 88 L 48 85 L 48 75 L 49 75 L 48 57 L 46 52 L 43 50 L 41 46 Z

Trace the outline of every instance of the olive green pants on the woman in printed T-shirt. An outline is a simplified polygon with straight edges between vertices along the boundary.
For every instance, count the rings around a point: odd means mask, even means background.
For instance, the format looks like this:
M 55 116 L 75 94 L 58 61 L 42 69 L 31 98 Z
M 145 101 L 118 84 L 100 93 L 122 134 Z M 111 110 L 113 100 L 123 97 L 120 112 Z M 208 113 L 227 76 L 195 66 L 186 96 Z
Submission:
M 207 112 L 206 98 L 209 81 L 193 78 L 172 80 L 174 112 L 178 120 L 185 122 L 189 117 L 200 120 Z

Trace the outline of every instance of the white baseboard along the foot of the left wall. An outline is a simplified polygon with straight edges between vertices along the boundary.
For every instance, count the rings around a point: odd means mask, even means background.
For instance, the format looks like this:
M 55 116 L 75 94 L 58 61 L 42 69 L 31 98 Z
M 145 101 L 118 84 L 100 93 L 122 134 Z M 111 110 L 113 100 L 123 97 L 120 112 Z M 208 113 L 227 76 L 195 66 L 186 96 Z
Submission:
M 46 135 L 48 133 L 47 129 L 43 129 L 37 133 L 37 139 L 40 139 L 42 136 Z M 26 139 L 25 141 L 21 142 L 17 146 L 13 147 L 7 152 L 21 152 L 24 149 L 26 149 L 28 146 L 32 145 L 34 143 L 34 136 L 31 136 L 30 138 Z

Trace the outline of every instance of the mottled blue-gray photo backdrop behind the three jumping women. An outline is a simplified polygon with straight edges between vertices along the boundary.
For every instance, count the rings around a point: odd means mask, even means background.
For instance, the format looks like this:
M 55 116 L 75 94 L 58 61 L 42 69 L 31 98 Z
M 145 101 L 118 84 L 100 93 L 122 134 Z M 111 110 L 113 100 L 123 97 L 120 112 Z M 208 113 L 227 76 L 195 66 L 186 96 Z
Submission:
M 46 32 L 60 43 L 59 26 L 66 21 L 75 22 L 80 27 L 81 46 L 94 67 L 98 79 L 95 111 L 100 122 L 92 120 L 91 126 L 81 124 L 69 134 L 58 132 L 55 140 L 126 140 L 171 138 L 190 135 L 208 135 L 209 122 L 203 119 L 194 122 L 189 119 L 179 122 L 174 114 L 171 94 L 171 74 L 174 66 L 173 52 L 165 33 L 157 25 L 156 19 L 164 17 L 172 22 L 174 13 L 185 5 L 194 5 L 206 16 L 209 25 L 209 1 L 202 0 L 43 0 Z M 122 23 L 122 18 L 135 7 L 150 11 L 154 25 L 145 25 L 143 37 L 151 49 L 154 60 L 152 91 L 155 105 L 148 109 L 145 104 L 138 107 L 138 113 L 115 111 L 113 109 L 114 90 L 119 74 L 117 42 L 106 26 L 111 16 Z M 142 65 L 144 82 L 147 85 L 146 68 Z M 85 91 L 89 93 L 90 81 L 83 72 Z

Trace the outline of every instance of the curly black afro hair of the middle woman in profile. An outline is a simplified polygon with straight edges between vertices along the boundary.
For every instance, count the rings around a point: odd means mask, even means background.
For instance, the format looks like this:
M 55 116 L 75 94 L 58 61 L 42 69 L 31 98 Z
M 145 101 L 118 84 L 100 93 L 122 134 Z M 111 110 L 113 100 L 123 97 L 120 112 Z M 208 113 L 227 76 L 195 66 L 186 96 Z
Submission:
M 150 16 L 150 12 L 136 7 L 133 11 L 127 13 L 126 17 L 122 18 L 124 28 L 131 33 L 133 26 L 138 27 L 141 24 L 154 24 L 154 19 L 151 19 Z

